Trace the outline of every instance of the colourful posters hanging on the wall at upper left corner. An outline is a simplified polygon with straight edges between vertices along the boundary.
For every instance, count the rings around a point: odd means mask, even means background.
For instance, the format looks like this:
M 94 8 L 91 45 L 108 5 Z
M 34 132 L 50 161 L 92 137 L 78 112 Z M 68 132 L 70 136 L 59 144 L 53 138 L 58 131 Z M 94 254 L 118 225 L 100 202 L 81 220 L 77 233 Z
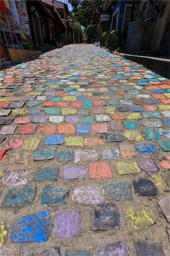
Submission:
M 1 0 L 0 19 L 5 47 L 33 49 L 24 0 Z

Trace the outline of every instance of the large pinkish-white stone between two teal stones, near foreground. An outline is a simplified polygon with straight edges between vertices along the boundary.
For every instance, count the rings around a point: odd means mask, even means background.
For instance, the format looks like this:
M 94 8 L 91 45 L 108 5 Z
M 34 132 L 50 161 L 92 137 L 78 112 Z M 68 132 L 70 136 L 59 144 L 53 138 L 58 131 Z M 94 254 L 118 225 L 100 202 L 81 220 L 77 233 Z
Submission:
M 91 205 L 104 203 L 104 191 L 100 185 L 87 185 L 75 188 L 73 201 L 76 204 Z

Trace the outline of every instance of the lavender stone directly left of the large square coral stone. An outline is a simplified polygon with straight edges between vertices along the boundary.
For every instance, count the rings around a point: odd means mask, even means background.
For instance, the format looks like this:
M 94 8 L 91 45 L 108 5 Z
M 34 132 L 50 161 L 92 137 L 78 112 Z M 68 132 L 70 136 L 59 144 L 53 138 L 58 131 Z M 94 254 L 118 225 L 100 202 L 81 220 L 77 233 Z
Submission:
M 80 166 L 63 166 L 60 168 L 63 180 L 84 179 L 88 169 Z

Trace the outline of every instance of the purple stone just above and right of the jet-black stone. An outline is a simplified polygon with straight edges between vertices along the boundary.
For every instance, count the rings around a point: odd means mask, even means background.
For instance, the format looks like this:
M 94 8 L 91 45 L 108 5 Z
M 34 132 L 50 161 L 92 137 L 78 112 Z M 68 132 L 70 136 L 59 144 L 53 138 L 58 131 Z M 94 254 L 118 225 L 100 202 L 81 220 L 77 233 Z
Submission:
M 142 158 L 138 160 L 138 166 L 145 172 L 158 172 L 159 167 L 152 158 Z

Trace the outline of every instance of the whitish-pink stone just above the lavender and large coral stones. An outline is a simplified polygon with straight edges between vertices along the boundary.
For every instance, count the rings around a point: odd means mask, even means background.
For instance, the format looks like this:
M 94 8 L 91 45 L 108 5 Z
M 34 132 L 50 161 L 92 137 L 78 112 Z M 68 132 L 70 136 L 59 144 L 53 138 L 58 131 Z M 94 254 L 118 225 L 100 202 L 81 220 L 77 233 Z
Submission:
M 82 161 L 97 161 L 99 159 L 99 152 L 96 150 L 75 150 L 74 163 Z

